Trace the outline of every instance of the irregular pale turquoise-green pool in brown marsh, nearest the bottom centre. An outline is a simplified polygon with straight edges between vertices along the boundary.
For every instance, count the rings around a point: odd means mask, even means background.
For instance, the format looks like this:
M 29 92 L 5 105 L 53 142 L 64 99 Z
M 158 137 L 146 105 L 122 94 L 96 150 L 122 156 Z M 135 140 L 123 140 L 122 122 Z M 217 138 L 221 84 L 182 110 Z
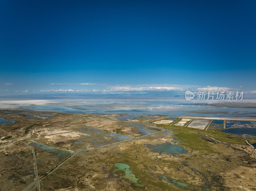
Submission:
M 138 182 L 138 178 L 135 177 L 135 175 L 132 173 L 132 171 L 130 171 L 130 166 L 126 165 L 124 163 L 115 163 L 114 166 L 117 168 L 115 170 L 113 170 L 113 173 L 122 173 L 122 175 L 120 176 L 120 178 L 125 178 L 128 179 L 130 182 L 132 182 L 132 184 L 134 186 L 137 187 L 145 187 L 144 184 L 140 184 Z

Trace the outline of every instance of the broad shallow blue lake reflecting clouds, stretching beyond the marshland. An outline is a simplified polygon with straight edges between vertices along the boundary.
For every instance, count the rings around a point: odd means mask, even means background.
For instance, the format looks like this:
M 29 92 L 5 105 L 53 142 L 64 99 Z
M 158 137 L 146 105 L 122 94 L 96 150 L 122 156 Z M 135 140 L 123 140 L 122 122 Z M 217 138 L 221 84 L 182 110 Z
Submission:
M 48 104 L 19 107 L 32 110 L 49 110 L 88 114 L 158 114 L 169 116 L 253 118 L 256 108 L 214 107 L 208 103 L 182 100 L 51 100 Z

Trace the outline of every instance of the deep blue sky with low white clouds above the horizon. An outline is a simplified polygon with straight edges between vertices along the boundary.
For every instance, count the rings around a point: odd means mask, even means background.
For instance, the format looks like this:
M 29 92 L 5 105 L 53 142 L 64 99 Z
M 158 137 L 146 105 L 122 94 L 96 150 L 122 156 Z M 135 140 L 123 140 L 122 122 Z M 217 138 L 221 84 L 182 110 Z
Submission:
M 3 0 L 0 96 L 256 93 L 255 8 L 252 0 Z

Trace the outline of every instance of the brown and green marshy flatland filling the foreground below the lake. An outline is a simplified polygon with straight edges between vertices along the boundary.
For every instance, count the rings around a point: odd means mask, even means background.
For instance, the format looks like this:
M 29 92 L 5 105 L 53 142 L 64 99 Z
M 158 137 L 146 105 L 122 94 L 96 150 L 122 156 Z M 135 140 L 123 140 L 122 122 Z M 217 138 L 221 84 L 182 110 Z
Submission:
M 148 123 L 163 116 L 9 112 L 0 112 L 16 121 L 0 125 L 2 191 L 30 190 L 30 183 L 38 190 L 38 182 L 42 191 L 256 190 L 255 149 L 236 137 L 235 144 L 222 143 L 225 133 Z M 37 171 L 27 144 L 34 145 Z M 115 163 L 129 165 L 145 187 L 121 178 L 122 170 L 114 173 Z

